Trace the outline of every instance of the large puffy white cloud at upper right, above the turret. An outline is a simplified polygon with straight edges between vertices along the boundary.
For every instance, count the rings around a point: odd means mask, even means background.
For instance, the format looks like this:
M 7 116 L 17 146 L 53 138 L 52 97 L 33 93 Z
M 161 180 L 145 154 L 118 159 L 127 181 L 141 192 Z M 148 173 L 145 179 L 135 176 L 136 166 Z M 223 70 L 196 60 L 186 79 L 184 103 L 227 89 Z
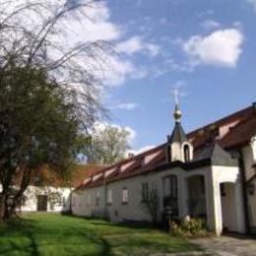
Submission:
M 194 35 L 183 43 L 183 50 L 194 65 L 209 64 L 235 67 L 242 52 L 243 34 L 236 29 L 212 32 L 208 36 Z

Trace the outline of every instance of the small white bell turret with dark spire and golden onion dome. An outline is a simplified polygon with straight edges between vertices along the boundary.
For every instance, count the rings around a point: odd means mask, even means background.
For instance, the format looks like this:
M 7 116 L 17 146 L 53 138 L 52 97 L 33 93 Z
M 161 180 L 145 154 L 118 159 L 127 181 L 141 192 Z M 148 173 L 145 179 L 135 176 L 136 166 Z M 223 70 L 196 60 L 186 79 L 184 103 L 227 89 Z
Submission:
M 175 126 L 172 134 L 167 137 L 167 160 L 190 161 L 193 160 L 193 146 L 188 142 L 186 134 L 181 126 L 181 111 L 178 104 L 175 105 L 173 117 Z

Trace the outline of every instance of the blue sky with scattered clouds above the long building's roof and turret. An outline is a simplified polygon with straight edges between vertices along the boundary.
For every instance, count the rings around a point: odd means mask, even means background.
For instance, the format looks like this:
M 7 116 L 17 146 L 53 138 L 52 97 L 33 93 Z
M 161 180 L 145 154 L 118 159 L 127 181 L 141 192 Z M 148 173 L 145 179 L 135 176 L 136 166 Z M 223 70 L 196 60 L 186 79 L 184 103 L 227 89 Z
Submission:
M 104 13 L 117 51 L 105 103 L 135 150 L 172 131 L 173 88 L 187 132 L 256 100 L 256 1 L 109 0 Z

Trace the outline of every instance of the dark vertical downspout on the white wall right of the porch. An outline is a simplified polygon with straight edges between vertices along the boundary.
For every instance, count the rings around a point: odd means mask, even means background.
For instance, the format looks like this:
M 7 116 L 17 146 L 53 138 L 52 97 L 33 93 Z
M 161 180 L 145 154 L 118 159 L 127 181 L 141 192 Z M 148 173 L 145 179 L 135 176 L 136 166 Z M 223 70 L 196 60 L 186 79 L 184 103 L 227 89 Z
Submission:
M 244 222 L 245 222 L 245 232 L 247 234 L 251 234 L 250 228 L 250 218 L 249 218 L 249 204 L 248 204 L 248 194 L 246 188 L 246 177 L 245 177 L 245 165 L 243 160 L 242 151 L 238 150 L 238 161 L 239 161 L 239 169 L 241 173 L 241 181 L 242 181 L 242 198 L 243 198 L 243 210 L 244 210 Z

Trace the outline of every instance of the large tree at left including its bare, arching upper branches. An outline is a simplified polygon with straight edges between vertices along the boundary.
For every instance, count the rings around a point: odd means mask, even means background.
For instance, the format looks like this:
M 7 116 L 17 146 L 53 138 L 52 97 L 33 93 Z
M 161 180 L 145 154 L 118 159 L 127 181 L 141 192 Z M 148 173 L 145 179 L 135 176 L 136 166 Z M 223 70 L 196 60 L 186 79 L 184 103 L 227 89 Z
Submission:
M 69 16 L 87 19 L 96 2 L 0 3 L 0 222 L 15 214 L 41 165 L 69 173 L 83 148 L 78 137 L 104 113 L 92 66 L 102 60 L 107 43 L 61 40 Z

